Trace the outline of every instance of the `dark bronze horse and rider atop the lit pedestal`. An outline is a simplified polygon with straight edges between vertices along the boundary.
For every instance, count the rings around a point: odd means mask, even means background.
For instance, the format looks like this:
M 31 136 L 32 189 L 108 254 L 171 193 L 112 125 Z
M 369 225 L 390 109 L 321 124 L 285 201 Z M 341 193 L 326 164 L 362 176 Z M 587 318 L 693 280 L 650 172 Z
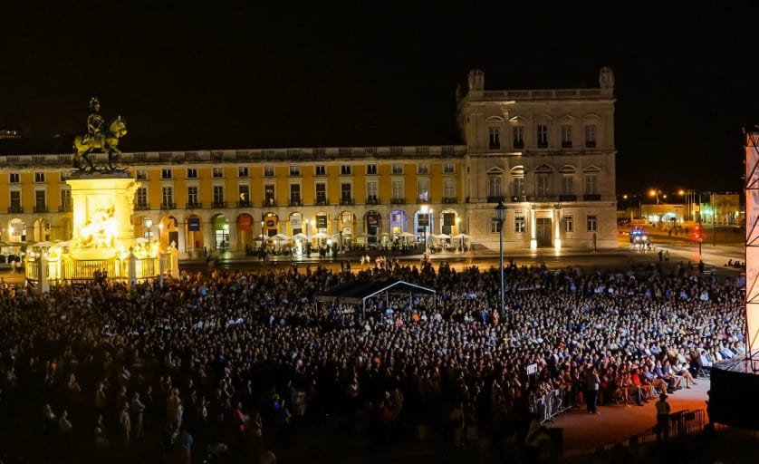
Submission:
M 90 153 L 94 150 L 108 153 L 108 167 L 101 170 L 113 172 L 113 160 L 120 155 L 119 139 L 127 134 L 127 123 L 120 116 L 111 120 L 107 125 L 100 115 L 101 102 L 98 97 L 90 99 L 91 114 L 87 117 L 87 133 L 77 135 L 73 140 L 74 160 L 73 167 L 80 170 L 97 170 L 90 160 Z M 82 163 L 82 160 L 86 164 Z

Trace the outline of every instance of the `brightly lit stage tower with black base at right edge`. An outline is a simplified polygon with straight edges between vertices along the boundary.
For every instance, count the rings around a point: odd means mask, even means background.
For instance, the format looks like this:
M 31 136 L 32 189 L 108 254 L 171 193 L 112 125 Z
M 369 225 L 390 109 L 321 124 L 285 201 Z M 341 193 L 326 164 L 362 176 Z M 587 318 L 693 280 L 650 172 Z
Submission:
M 759 126 L 745 130 L 745 217 L 746 353 L 712 367 L 709 418 L 759 430 Z

